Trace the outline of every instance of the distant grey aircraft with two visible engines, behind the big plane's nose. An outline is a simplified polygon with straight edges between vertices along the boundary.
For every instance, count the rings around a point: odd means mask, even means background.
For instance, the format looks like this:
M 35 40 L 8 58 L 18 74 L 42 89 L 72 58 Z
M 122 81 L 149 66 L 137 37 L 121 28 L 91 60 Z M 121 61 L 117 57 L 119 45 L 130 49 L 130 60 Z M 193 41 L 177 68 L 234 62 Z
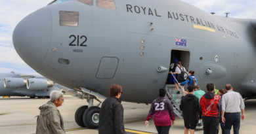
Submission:
M 53 90 L 64 88 L 43 76 L 21 73 L 0 73 L 0 96 L 28 96 L 50 98 Z

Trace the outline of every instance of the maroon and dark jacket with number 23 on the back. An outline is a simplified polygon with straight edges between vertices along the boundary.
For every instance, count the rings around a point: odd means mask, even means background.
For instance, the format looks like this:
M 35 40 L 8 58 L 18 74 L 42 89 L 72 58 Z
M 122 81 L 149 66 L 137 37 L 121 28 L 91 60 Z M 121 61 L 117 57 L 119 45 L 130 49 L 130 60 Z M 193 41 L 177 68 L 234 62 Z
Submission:
M 155 99 L 152 102 L 146 120 L 150 120 L 153 115 L 155 126 L 171 126 L 171 120 L 175 120 L 171 101 L 165 97 Z

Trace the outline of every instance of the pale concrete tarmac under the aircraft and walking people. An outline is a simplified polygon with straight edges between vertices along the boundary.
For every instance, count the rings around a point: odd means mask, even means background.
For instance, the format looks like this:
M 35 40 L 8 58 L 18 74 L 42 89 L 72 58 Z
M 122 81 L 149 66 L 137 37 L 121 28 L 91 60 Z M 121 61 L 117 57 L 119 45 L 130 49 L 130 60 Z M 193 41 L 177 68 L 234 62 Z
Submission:
M 32 134 L 35 133 L 36 118 L 39 115 L 41 105 L 49 99 L 30 99 L 29 97 L 11 97 L 0 99 L 0 134 Z M 98 134 L 97 129 L 87 129 L 79 127 L 75 123 L 75 111 L 82 105 L 87 105 L 87 101 L 77 99 L 70 95 L 64 95 L 62 107 L 58 107 L 64 118 L 66 134 Z M 98 105 L 94 101 L 94 105 Z M 150 105 L 122 102 L 125 109 L 124 122 L 127 134 L 157 133 L 154 121 L 150 120 L 148 127 L 144 126 Z M 245 101 L 245 120 L 241 121 L 241 134 L 255 134 L 256 132 L 256 99 Z M 175 124 L 171 126 L 169 133 L 184 133 L 183 119 L 176 116 Z M 202 134 L 203 129 L 198 128 L 196 134 Z M 219 131 L 221 133 L 221 131 Z

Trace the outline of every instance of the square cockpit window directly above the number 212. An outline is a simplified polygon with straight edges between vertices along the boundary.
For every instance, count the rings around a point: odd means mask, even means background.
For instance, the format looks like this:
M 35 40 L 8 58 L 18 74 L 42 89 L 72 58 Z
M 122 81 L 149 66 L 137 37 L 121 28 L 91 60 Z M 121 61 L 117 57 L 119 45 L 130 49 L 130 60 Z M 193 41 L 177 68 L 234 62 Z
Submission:
M 60 11 L 60 25 L 77 27 L 79 12 Z

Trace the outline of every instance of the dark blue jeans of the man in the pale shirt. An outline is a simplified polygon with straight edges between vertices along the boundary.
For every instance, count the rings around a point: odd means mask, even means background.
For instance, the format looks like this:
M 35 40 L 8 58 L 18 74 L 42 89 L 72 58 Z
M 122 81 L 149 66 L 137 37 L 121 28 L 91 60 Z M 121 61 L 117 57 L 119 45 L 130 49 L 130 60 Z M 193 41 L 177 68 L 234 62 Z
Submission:
M 240 129 L 240 112 L 236 113 L 225 113 L 224 118 L 225 122 L 225 133 L 230 134 L 231 127 L 233 126 L 234 134 L 239 134 Z

